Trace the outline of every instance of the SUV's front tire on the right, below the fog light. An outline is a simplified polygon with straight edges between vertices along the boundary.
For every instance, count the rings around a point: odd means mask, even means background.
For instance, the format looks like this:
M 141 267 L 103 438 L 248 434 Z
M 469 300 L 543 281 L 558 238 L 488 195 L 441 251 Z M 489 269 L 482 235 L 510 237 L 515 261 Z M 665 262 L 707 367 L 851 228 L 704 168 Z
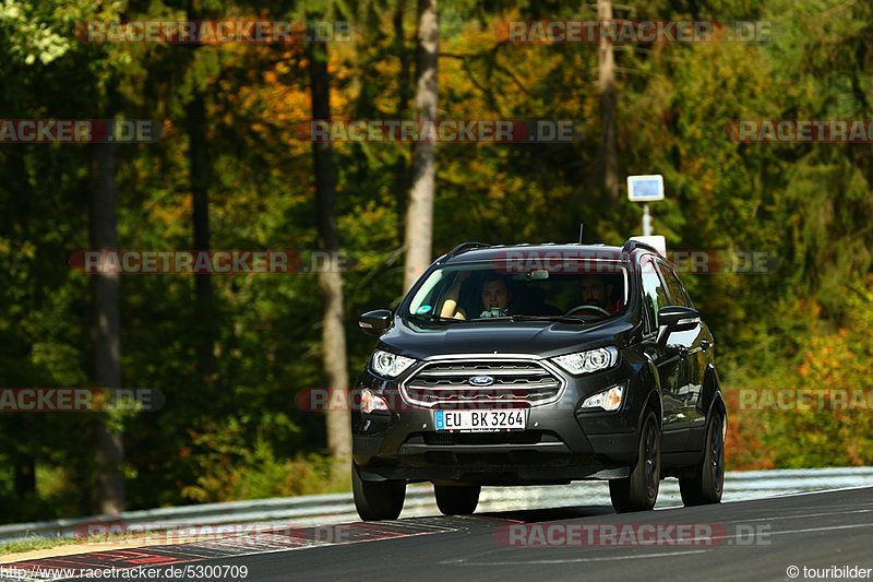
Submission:
M 661 431 L 658 418 L 650 412 L 643 421 L 636 465 L 631 475 L 609 482 L 609 497 L 619 513 L 647 511 L 658 500 L 661 480 Z

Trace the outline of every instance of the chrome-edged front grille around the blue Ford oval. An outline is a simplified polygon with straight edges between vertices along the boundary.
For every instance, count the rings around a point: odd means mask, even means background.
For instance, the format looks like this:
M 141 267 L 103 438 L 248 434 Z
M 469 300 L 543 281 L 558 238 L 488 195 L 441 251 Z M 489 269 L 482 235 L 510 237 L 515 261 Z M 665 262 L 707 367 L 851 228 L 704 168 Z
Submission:
M 488 385 L 471 378 L 488 377 Z M 488 359 L 426 364 L 404 382 L 404 395 L 424 407 L 511 408 L 548 404 L 558 400 L 562 380 L 536 360 Z

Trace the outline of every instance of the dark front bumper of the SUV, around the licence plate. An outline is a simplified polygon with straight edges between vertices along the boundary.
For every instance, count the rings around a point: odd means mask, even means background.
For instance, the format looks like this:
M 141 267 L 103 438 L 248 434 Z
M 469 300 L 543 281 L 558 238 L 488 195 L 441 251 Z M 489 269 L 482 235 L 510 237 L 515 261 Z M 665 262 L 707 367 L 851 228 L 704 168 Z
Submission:
M 352 414 L 355 463 L 366 480 L 534 485 L 626 477 L 637 459 L 648 394 L 637 380 L 639 366 L 622 358 L 602 372 L 562 375 L 560 400 L 526 408 L 524 431 L 458 433 L 434 429 L 439 406 L 408 405 L 398 382 L 364 371 L 358 388 L 384 396 L 392 409 Z M 620 409 L 578 409 L 586 397 L 619 383 L 625 384 Z

